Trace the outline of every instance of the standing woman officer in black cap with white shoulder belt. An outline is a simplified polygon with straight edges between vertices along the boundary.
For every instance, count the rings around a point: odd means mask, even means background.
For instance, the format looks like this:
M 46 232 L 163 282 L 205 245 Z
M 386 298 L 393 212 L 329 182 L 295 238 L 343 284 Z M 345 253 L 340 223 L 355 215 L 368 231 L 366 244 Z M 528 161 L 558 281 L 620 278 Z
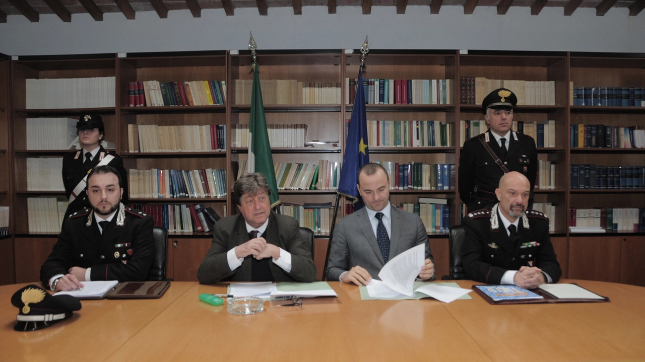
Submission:
M 68 199 L 65 218 L 85 207 L 90 208 L 90 201 L 85 193 L 86 176 L 96 166 L 108 165 L 119 171 L 123 184 L 121 202 L 128 204 L 128 171 L 123 167 L 123 160 L 114 152 L 105 151 L 100 145 L 105 137 L 105 126 L 99 115 L 81 115 L 76 123 L 79 142 L 83 149 L 68 153 L 63 157 L 63 183 Z

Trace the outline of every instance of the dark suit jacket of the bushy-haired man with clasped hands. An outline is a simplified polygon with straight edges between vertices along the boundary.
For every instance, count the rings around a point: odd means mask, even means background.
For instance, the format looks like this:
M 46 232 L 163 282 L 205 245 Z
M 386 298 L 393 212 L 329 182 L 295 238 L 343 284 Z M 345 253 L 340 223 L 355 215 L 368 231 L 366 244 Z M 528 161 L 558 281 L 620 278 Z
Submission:
M 277 245 L 291 253 L 291 272 L 285 272 L 281 267 L 270 260 L 269 265 L 273 280 L 275 281 L 313 281 L 316 277 L 316 267 L 313 264 L 312 253 L 304 245 L 303 238 L 298 229 L 298 222 L 286 215 L 271 213 L 269 224 L 262 237 L 267 243 Z M 237 214 L 228 216 L 215 223 L 213 242 L 206 254 L 197 279 L 199 283 L 209 284 L 216 281 L 251 281 L 251 258 L 246 256 L 242 265 L 231 271 L 226 259 L 226 253 L 248 242 L 244 216 Z

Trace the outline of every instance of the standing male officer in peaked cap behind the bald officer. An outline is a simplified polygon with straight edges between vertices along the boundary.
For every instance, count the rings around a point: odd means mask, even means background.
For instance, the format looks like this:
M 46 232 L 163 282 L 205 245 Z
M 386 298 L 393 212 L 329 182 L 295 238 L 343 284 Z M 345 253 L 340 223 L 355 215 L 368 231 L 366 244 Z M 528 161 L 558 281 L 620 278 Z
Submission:
M 532 191 L 537 175 L 533 138 L 511 131 L 515 94 L 506 88 L 491 91 L 482 101 L 488 131 L 464 142 L 459 157 L 459 197 L 468 212 L 497 202 L 495 189 L 505 173 L 517 171 L 528 178 Z

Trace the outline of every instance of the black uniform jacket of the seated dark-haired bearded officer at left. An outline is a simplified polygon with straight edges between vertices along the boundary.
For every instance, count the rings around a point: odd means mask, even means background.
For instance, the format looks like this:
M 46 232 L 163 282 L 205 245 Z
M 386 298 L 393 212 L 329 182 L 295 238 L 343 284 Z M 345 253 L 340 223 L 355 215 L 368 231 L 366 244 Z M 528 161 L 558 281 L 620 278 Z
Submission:
M 48 285 L 56 274 L 67 274 L 71 267 L 92 267 L 90 280 L 145 280 L 154 255 L 154 222 L 141 211 L 123 208 L 123 226 L 117 225 L 117 211 L 103 235 L 90 209 L 67 218 L 52 254 L 41 267 L 43 284 Z

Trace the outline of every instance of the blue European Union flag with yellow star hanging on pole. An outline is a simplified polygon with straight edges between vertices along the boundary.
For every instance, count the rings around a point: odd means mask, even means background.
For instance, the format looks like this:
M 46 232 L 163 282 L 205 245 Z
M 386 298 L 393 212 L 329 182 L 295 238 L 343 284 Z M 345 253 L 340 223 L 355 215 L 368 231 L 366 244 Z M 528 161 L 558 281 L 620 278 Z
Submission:
M 356 200 L 354 210 L 361 209 L 363 203 L 359 191 L 358 173 L 361 166 L 370 163 L 370 149 L 367 139 L 367 117 L 365 115 L 365 96 L 362 82 L 362 71 L 359 70 L 359 81 L 356 84 L 356 96 L 352 109 L 350 129 L 347 131 L 345 155 L 342 158 L 341 179 L 338 193 Z

